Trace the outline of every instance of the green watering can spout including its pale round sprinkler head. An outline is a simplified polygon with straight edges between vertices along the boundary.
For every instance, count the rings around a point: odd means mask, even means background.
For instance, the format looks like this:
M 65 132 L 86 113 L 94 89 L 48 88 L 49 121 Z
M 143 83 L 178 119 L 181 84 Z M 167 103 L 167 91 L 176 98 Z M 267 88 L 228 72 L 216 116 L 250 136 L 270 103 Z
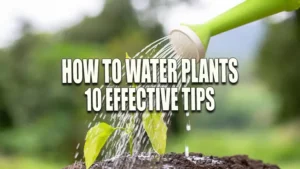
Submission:
M 182 49 L 182 43 L 187 43 L 189 46 L 194 45 L 197 51 L 192 53 L 197 54 L 197 56 L 193 56 L 193 58 L 200 60 L 205 55 L 210 37 L 282 11 L 296 10 L 299 7 L 300 0 L 246 0 L 203 25 L 184 25 L 184 28 L 173 30 L 170 33 L 171 43 L 175 50 L 180 49 L 180 54 L 185 58 L 187 56 L 184 55 L 190 54 L 190 52 Z M 194 34 L 186 31 L 187 28 L 192 30 Z M 178 38 L 179 32 L 185 36 L 186 40 L 190 41 L 178 43 L 176 39 L 182 39 Z M 197 38 L 201 42 L 200 44 L 196 40 Z

